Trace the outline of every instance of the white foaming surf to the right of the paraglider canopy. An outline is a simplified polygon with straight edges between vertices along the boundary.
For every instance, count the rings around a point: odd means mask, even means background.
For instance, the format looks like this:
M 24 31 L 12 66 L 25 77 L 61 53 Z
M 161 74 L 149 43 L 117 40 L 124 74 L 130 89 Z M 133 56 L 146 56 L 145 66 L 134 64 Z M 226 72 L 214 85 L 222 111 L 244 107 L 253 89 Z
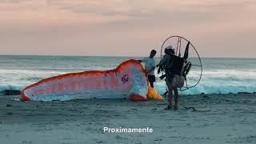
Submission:
M 195 83 L 200 75 L 199 71 L 191 71 L 188 81 Z M 190 79 L 195 79 L 190 80 Z M 166 91 L 166 83 L 158 80 L 155 89 L 160 94 Z M 238 92 L 256 92 L 256 70 L 207 70 L 202 74 L 202 79 L 198 86 L 181 94 L 229 94 Z

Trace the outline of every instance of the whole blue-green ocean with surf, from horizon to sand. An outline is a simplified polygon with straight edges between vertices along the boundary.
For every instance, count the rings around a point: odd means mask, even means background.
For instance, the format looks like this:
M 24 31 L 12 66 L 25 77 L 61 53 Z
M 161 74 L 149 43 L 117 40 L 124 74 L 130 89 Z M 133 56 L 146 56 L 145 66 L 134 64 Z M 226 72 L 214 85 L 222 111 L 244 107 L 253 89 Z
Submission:
M 90 56 L 16 56 L 0 55 L 0 91 L 23 90 L 26 86 L 59 74 L 86 70 L 110 70 L 134 57 Z M 155 58 L 156 62 L 160 58 Z M 195 58 L 193 61 L 197 61 Z M 198 86 L 182 94 L 256 92 L 256 58 L 202 58 L 202 79 Z M 193 66 L 188 75 L 192 86 L 198 81 L 200 67 Z M 166 91 L 157 74 L 155 89 Z

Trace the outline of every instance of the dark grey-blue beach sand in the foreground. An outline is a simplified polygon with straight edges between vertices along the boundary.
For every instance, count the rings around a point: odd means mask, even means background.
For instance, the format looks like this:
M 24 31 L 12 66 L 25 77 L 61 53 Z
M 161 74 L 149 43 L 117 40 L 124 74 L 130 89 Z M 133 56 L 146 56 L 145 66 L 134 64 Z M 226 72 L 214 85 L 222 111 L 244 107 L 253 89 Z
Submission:
M 11 98 L 18 96 L 0 96 L 2 144 L 256 143 L 256 94 L 182 95 L 177 111 L 163 110 L 166 101 L 18 102 Z M 104 133 L 105 126 L 154 131 Z

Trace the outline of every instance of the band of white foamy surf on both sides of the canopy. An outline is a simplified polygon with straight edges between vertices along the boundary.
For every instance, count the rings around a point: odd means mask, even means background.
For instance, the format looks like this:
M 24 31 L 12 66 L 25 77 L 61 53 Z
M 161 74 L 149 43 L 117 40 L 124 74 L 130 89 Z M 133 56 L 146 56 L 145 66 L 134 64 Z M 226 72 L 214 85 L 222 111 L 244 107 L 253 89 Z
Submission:
M 43 78 L 49 78 L 59 74 L 70 73 L 70 71 L 57 70 L 0 70 L 0 91 L 23 90 L 26 86 L 38 82 Z M 192 70 L 188 75 L 188 83 L 193 86 L 200 75 L 199 70 Z M 160 94 L 166 91 L 166 83 L 159 79 L 155 89 Z M 182 91 L 181 94 L 212 94 L 215 92 L 228 94 L 238 92 L 256 91 L 256 70 L 204 70 L 202 80 L 190 90 Z

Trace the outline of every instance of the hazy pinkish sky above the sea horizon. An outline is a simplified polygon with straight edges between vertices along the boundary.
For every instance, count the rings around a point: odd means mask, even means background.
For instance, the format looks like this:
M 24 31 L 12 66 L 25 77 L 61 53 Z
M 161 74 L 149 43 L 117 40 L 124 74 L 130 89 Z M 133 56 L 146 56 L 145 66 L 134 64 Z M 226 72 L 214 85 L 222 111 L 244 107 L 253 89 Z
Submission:
M 256 58 L 255 15 L 255 0 L 0 0 L 0 54 L 146 56 L 181 35 L 205 58 Z

